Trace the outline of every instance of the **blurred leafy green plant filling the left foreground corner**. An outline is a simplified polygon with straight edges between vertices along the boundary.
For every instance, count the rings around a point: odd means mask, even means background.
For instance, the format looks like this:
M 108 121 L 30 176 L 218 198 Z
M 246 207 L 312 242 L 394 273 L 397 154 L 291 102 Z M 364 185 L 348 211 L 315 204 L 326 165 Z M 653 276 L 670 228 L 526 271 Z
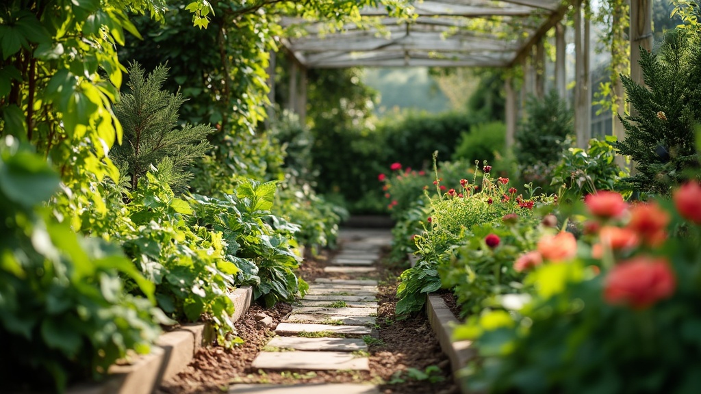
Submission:
M 77 236 L 40 208 L 58 186 L 41 156 L 13 137 L 0 142 L 0 367 L 10 390 L 62 392 L 103 375 L 130 350 L 148 353 L 157 323 L 168 323 L 149 301 L 154 285 L 118 246 Z M 125 294 L 121 277 L 149 299 Z

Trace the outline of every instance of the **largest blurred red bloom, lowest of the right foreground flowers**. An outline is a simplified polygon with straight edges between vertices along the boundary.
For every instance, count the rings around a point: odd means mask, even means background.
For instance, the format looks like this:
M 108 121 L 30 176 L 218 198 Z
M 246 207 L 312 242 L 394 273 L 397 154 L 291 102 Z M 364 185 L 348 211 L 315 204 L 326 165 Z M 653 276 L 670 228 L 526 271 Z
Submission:
M 646 308 L 674 294 L 676 278 L 663 257 L 638 256 L 611 269 L 604 282 L 604 299 L 609 304 Z

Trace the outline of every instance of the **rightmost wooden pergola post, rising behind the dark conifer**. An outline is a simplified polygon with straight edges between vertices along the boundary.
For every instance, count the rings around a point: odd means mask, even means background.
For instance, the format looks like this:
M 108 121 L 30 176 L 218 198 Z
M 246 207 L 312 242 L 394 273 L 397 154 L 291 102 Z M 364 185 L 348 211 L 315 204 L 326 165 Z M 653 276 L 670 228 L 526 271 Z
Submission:
M 645 85 L 640 67 L 640 50 L 648 52 L 653 48 L 652 29 L 653 1 L 630 1 L 630 79 Z

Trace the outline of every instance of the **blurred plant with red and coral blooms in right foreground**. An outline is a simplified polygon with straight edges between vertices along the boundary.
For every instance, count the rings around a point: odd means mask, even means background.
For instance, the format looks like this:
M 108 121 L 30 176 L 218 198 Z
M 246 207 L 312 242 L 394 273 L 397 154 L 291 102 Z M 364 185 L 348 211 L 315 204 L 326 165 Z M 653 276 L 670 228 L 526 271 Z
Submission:
M 475 340 L 465 370 L 489 393 L 699 393 L 701 186 L 630 205 L 585 198 L 583 235 L 541 238 L 515 261 L 525 303 L 456 330 Z M 521 297 L 522 299 L 524 297 Z

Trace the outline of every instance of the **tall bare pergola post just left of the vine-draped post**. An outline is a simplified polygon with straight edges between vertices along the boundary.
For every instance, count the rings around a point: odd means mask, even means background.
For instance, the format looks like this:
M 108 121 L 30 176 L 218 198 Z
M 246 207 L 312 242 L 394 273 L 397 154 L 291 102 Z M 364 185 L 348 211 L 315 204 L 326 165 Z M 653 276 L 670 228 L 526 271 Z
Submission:
M 574 121 L 577 147 L 586 148 L 592 136 L 592 93 L 589 76 L 590 22 L 583 15 L 583 4 L 588 0 L 577 0 L 575 4 L 575 57 L 576 86 Z

